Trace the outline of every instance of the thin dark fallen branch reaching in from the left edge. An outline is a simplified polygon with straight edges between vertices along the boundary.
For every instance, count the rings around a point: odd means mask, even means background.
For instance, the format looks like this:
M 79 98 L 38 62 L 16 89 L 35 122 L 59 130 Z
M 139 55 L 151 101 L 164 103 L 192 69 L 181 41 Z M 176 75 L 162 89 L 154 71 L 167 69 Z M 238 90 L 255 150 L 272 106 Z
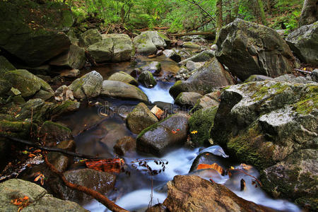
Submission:
M 74 153 L 74 152 L 71 152 L 71 151 L 66 151 L 65 149 L 62 149 L 62 148 L 40 146 L 40 145 L 37 145 L 36 143 L 33 143 L 31 141 L 26 141 L 26 140 L 23 140 L 23 139 L 13 138 L 11 136 L 6 136 L 6 135 L 0 135 L 0 136 L 4 137 L 6 139 L 12 140 L 12 141 L 18 141 L 19 143 L 24 143 L 24 144 L 26 144 L 28 146 L 33 146 L 35 148 L 39 148 L 42 151 L 57 152 L 57 153 L 62 153 L 64 155 L 71 155 L 73 157 L 78 157 L 78 158 L 105 159 L 105 158 L 97 158 L 96 156 L 93 156 L 93 155 L 85 155 L 85 154 L 81 154 L 81 153 Z

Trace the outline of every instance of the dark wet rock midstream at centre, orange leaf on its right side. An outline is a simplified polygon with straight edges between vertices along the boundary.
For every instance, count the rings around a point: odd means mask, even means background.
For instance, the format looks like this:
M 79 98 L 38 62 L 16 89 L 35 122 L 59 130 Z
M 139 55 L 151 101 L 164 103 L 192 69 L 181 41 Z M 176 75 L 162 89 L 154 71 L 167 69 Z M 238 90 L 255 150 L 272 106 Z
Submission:
M 188 119 L 186 114 L 175 114 L 143 129 L 137 136 L 137 151 L 159 157 L 168 148 L 184 143 L 189 129 Z

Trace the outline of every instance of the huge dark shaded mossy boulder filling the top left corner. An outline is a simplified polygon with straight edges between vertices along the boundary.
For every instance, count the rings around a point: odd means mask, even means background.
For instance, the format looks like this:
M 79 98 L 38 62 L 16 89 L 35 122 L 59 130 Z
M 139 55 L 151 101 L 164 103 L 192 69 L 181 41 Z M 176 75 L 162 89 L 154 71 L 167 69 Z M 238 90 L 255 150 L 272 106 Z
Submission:
M 0 13 L 0 47 L 29 66 L 40 66 L 71 45 L 69 37 L 61 32 L 73 25 L 72 13 L 66 5 L 1 1 Z

